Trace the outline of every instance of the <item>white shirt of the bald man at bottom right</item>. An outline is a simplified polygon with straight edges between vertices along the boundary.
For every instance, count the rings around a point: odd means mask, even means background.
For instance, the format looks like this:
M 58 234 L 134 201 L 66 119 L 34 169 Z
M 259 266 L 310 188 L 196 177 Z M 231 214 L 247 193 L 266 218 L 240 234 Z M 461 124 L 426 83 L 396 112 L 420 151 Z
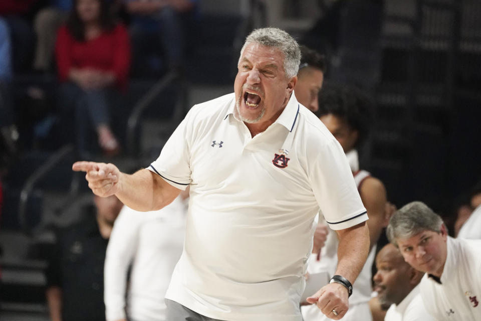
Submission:
M 399 304 L 391 304 L 384 321 L 435 321 L 426 311 L 419 294 L 419 284 Z

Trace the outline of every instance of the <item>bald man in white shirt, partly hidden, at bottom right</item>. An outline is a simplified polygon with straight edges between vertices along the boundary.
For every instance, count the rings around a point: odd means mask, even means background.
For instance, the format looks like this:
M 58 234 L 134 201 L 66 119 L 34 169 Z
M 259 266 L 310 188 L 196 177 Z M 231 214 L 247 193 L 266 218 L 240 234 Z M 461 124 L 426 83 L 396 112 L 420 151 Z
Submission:
M 406 263 L 392 244 L 384 246 L 376 256 L 377 273 L 374 290 L 381 306 L 389 306 L 384 321 L 430 321 L 419 294 L 423 272 Z

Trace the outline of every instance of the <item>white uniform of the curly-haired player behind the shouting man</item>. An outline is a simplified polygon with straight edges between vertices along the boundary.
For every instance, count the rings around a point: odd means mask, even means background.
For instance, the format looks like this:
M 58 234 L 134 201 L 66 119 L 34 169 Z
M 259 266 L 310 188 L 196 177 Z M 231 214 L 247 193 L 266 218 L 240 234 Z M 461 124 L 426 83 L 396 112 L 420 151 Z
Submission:
M 354 150 L 354 149 L 353 149 Z M 355 151 L 355 150 L 354 150 Z M 353 153 L 348 152 L 346 154 L 351 170 L 357 169 L 354 173 L 354 181 L 357 188 L 359 189 L 361 183 L 368 177 L 370 173 L 364 170 L 359 171 L 359 166 L 357 162 L 357 151 L 355 151 L 355 162 L 351 162 L 351 157 Z M 314 224 L 316 226 L 317 223 Z M 317 254 L 311 254 L 309 259 L 309 264 L 307 271 L 310 274 L 319 272 L 328 272 L 330 276 L 333 276 L 337 268 L 337 247 L 339 245 L 339 240 L 337 234 L 332 229 L 327 235 L 327 240 L 324 247 L 321 249 L 321 258 L 317 260 Z M 372 292 L 372 263 L 374 262 L 374 257 L 376 256 L 376 246 L 371 248 L 369 255 L 367 257 L 366 263 L 364 264 L 359 276 L 353 284 L 352 295 L 349 297 L 349 310 L 344 314 L 343 321 L 369 321 L 372 320 L 371 310 L 369 308 L 369 300 L 371 299 Z M 312 293 L 314 294 L 314 293 Z M 316 304 L 303 305 L 301 306 L 302 316 L 304 321 L 321 321 L 330 320 L 322 311 L 317 307 Z

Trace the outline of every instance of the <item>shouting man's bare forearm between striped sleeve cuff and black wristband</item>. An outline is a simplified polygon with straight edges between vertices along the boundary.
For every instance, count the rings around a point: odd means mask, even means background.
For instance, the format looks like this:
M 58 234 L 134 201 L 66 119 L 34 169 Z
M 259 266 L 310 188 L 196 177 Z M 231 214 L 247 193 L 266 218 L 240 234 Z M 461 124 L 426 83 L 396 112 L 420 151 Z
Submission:
M 337 231 L 339 247 L 336 274 L 354 283 L 369 254 L 369 229 L 366 222 Z

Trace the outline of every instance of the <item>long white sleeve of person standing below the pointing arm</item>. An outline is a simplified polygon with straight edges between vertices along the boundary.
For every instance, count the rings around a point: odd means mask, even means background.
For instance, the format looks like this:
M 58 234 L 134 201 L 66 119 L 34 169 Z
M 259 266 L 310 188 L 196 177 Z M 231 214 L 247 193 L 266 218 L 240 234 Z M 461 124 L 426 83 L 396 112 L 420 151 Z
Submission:
M 124 206 L 110 235 L 104 266 L 104 302 L 107 321 L 126 318 L 127 271 L 138 246 L 141 214 Z

